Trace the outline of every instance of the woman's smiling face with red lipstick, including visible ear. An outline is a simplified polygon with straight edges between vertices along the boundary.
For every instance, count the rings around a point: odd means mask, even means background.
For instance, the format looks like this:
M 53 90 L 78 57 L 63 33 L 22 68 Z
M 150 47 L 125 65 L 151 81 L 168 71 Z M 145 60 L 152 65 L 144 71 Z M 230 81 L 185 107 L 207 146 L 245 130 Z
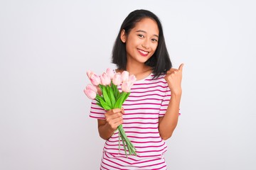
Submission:
M 126 43 L 127 62 L 144 63 L 154 55 L 159 40 L 159 28 L 156 21 L 143 18 L 130 32 L 121 33 L 122 42 Z

